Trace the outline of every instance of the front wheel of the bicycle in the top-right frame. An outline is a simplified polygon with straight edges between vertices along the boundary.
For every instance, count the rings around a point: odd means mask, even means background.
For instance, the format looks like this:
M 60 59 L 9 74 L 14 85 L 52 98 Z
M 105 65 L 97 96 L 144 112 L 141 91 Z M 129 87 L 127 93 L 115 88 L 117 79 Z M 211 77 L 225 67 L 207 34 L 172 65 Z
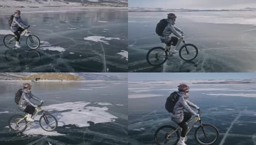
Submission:
M 185 44 L 179 49 L 179 57 L 185 61 L 191 61 L 198 55 L 198 49 L 193 44 Z

